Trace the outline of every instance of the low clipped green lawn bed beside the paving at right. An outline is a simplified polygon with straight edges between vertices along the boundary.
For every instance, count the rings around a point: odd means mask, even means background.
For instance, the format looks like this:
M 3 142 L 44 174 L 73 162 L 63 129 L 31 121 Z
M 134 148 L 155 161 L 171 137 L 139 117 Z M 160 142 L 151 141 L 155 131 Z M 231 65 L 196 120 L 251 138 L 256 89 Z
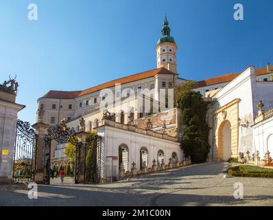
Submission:
M 260 166 L 239 165 L 228 168 L 228 174 L 235 177 L 272 177 L 273 169 Z

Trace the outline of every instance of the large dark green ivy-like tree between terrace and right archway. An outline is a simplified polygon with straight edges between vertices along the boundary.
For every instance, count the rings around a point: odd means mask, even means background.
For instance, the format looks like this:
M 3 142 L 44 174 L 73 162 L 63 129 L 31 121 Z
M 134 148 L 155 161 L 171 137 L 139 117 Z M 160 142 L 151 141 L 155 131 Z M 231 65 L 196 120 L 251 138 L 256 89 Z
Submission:
M 189 88 L 189 87 L 188 87 Z M 187 90 L 178 96 L 178 107 L 181 109 L 182 136 L 181 147 L 191 162 L 206 162 L 209 154 L 209 126 L 206 123 L 207 103 L 196 91 Z

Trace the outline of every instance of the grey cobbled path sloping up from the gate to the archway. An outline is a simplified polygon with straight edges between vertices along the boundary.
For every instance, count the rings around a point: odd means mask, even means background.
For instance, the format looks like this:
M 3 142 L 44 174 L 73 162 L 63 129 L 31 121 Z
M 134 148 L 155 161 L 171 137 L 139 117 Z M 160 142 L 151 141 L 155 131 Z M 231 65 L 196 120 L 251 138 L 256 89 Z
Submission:
M 224 178 L 227 166 L 198 164 L 113 184 L 39 185 L 38 199 L 28 199 L 27 186 L 0 186 L 0 206 L 273 206 L 273 179 Z M 233 196 L 237 182 L 244 199 Z

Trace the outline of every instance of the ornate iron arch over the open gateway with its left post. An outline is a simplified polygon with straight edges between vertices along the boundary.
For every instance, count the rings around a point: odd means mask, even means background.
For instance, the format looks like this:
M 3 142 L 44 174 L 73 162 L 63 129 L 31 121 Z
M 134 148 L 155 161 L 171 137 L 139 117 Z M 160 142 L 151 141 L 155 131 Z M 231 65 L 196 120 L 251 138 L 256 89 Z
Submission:
M 44 138 L 44 183 L 50 184 L 51 168 L 50 168 L 50 154 L 51 154 L 51 142 L 58 142 L 58 144 L 64 144 L 71 142 L 72 144 L 78 144 L 75 136 L 74 129 L 70 129 L 65 120 L 62 120 L 60 124 L 55 126 L 49 126 L 47 128 L 47 134 Z

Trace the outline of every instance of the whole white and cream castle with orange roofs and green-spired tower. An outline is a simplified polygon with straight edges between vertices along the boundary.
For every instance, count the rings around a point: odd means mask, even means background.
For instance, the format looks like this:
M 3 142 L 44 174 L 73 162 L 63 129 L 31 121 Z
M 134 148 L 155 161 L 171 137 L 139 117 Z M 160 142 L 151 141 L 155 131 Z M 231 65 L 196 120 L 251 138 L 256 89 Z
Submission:
M 121 164 L 128 171 L 132 163 L 142 169 L 152 167 L 154 161 L 161 166 L 185 160 L 179 142 L 183 132 L 180 109 L 171 102 L 174 87 L 187 82 L 177 72 L 177 50 L 165 17 L 156 44 L 156 69 L 82 91 L 49 91 L 38 98 L 37 122 L 43 111 L 45 124 L 58 124 L 64 118 L 75 131 L 97 131 L 104 140 L 106 163 L 109 156 L 119 157 L 113 168 L 117 179 Z M 273 151 L 272 66 L 248 67 L 241 73 L 205 79 L 195 91 L 211 102 L 207 117 L 211 126 L 209 159 Z M 263 105 L 257 107 L 258 103 Z M 52 146 L 52 166 L 66 163 L 65 147 Z M 106 178 L 108 166 L 104 167 Z

